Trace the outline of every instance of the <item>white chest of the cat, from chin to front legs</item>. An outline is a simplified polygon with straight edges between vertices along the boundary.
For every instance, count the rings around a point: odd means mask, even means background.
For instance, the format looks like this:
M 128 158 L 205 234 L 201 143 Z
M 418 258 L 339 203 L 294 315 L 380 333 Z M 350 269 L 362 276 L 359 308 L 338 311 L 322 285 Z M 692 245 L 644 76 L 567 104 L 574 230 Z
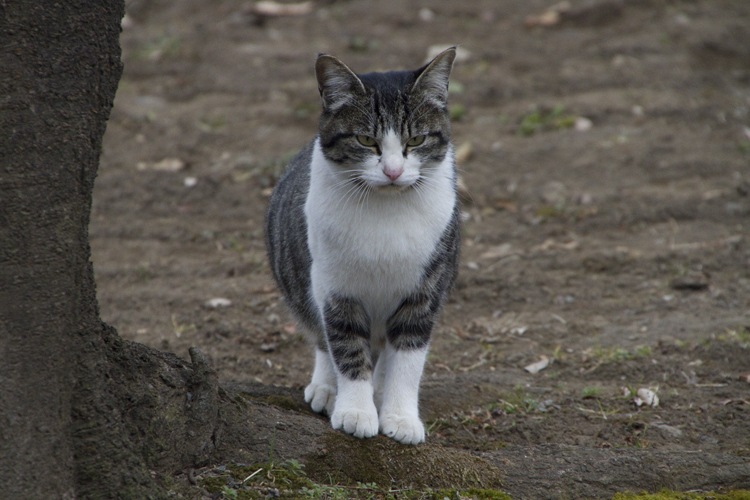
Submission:
M 419 286 L 452 216 L 451 161 L 446 175 L 420 193 L 374 192 L 363 199 L 336 182 L 335 167 L 316 144 L 305 212 L 319 306 L 328 294 L 343 294 L 361 300 L 373 320 L 384 320 Z

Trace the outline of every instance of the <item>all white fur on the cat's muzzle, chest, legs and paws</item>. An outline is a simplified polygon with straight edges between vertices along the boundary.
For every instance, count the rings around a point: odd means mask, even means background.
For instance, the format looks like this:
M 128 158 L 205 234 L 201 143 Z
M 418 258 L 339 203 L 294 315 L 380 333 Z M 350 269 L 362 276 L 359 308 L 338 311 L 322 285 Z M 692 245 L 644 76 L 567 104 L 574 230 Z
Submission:
M 322 311 L 333 293 L 360 300 L 371 319 L 371 347 L 376 350 L 385 344 L 388 317 L 419 286 L 424 267 L 450 222 L 456 197 L 452 150 L 440 164 L 424 166 L 422 173 L 428 178 L 424 185 L 409 188 L 420 176 L 420 161 L 414 155 L 403 157 L 400 138 L 392 131 L 381 148 L 382 160 L 373 158 L 362 166 L 361 178 L 372 188 L 365 196 L 352 192 L 353 185 L 344 182 L 350 173 L 329 162 L 316 141 L 305 204 L 315 302 Z M 383 171 L 383 162 L 393 166 L 399 161 L 403 163 L 396 166 L 403 173 L 392 182 Z M 377 433 L 373 403 L 377 390 L 378 403 L 382 397 L 383 433 L 404 443 L 418 443 L 424 441 L 417 390 L 426 350 L 391 351 L 386 345 L 376 366 L 374 378 L 382 386 L 378 383 L 375 389 L 372 380 L 351 381 L 333 367 L 338 394 L 331 423 L 358 437 L 373 435 L 373 429 Z M 316 353 L 316 374 L 317 358 Z M 311 387 L 317 383 L 313 375 L 306 399 L 310 391 L 310 400 L 315 400 L 317 389 Z

